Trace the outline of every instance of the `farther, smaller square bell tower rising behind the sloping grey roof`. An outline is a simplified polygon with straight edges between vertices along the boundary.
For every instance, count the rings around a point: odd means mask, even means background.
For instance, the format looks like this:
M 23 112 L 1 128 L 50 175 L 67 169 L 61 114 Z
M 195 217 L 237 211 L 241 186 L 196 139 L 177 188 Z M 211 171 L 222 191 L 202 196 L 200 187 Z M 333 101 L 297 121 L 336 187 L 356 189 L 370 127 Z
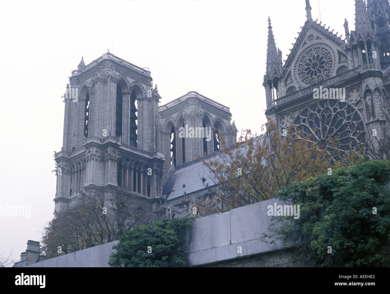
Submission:
M 212 154 L 219 150 L 218 136 L 230 146 L 236 142 L 230 124 L 232 114 L 229 107 L 217 103 L 197 92 L 188 92 L 170 103 L 162 105 L 159 111 L 159 146 L 166 159 L 165 170 L 181 165 L 202 156 L 204 152 Z M 211 138 L 200 136 L 198 131 L 189 136 L 180 133 L 180 128 L 208 128 Z M 183 130 L 183 129 L 182 129 Z M 197 129 L 199 130 L 199 129 Z M 188 132 L 189 134 L 190 132 Z M 207 131 L 206 131 L 206 135 Z

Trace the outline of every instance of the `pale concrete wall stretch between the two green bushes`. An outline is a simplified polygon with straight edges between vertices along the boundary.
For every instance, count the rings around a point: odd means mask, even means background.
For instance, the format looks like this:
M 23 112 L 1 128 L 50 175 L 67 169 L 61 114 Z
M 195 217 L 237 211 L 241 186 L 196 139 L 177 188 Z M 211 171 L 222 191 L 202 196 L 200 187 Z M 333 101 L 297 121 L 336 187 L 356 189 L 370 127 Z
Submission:
M 275 202 L 282 204 L 270 199 L 195 220 L 190 264 L 199 266 L 284 249 L 280 242 L 270 245 L 260 239 L 262 233 L 269 234 L 271 216 L 267 215 L 267 206 Z

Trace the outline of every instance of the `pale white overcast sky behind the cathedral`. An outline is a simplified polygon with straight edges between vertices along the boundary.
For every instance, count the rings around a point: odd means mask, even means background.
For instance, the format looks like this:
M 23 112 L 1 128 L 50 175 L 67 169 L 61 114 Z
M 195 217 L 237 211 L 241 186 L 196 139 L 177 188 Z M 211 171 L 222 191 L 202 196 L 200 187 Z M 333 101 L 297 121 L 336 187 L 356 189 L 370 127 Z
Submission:
M 310 0 L 313 19 L 344 35 L 354 0 Z M 31 218 L 0 216 L 0 254 L 19 260 L 54 211 L 53 151 L 62 147 L 71 71 L 110 50 L 149 67 L 161 105 L 195 90 L 230 107 L 239 130 L 261 133 L 268 16 L 283 59 L 306 21 L 305 0 L 0 0 L 2 126 L 0 205 L 31 205 Z

